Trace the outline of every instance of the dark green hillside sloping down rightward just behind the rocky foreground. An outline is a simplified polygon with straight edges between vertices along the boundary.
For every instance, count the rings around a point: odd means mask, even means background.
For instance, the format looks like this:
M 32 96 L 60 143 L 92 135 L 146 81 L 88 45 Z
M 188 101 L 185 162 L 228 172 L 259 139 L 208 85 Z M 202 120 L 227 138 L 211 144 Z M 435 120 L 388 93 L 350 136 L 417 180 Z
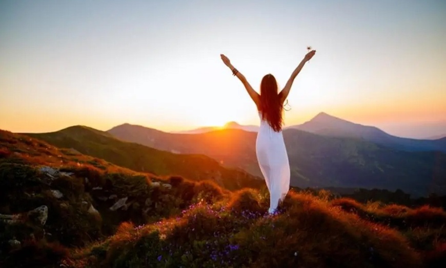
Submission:
M 51 133 L 28 133 L 61 148 L 75 150 L 135 171 L 156 175 L 179 175 L 190 180 L 213 180 L 227 189 L 259 187 L 263 180 L 241 169 L 222 167 L 202 154 L 175 154 L 136 143 L 124 142 L 109 133 L 73 126 Z

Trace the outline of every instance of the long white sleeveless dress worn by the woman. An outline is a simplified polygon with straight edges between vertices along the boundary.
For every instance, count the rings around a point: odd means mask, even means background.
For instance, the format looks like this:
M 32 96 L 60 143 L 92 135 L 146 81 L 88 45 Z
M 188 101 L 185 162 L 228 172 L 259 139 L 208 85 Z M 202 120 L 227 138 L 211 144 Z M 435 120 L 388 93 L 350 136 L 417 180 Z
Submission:
M 259 117 L 260 128 L 255 149 L 260 170 L 270 191 L 268 212 L 274 213 L 279 200 L 283 201 L 290 189 L 290 162 L 282 131 L 274 131 L 267 121 L 262 120 L 260 112 Z

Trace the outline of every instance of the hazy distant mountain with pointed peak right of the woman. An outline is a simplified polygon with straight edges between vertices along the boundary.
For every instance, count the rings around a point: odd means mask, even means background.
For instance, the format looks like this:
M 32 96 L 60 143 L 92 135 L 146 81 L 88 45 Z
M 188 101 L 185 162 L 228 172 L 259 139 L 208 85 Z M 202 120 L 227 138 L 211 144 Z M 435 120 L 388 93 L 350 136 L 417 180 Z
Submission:
M 446 152 L 446 139 L 418 140 L 392 136 L 374 126 L 365 126 L 343 120 L 326 113 L 319 113 L 310 121 L 288 129 L 300 129 L 323 136 L 361 139 L 406 151 Z

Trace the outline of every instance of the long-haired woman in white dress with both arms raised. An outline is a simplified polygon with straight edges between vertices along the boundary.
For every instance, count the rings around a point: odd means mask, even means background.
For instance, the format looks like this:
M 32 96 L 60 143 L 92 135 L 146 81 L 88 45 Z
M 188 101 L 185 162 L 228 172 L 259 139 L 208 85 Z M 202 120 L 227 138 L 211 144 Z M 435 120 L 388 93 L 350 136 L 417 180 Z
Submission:
M 256 139 L 256 155 L 260 170 L 265 177 L 270 192 L 270 214 L 275 213 L 279 202 L 285 199 L 290 189 L 290 163 L 288 162 L 287 149 L 282 136 L 282 111 L 283 102 L 288 97 L 294 79 L 302 70 L 303 65 L 309 61 L 315 50 L 305 55 L 297 68 L 291 74 L 287 84 L 278 92 L 277 82 L 273 75 L 267 74 L 260 83 L 260 95 L 255 92 L 245 76 L 238 72 L 229 61 L 228 57 L 221 54 L 221 60 L 231 69 L 232 74 L 245 85 L 245 88 L 257 106 L 260 117 L 260 128 Z

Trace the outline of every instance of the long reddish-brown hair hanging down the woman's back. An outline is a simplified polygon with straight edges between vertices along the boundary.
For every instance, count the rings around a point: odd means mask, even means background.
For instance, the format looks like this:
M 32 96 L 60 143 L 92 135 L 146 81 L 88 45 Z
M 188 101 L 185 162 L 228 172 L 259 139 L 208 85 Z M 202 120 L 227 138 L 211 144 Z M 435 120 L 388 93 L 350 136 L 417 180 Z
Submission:
M 279 132 L 283 124 L 283 106 L 280 103 L 281 93 L 278 93 L 276 78 L 272 74 L 263 76 L 260 83 L 260 107 L 262 120 Z

